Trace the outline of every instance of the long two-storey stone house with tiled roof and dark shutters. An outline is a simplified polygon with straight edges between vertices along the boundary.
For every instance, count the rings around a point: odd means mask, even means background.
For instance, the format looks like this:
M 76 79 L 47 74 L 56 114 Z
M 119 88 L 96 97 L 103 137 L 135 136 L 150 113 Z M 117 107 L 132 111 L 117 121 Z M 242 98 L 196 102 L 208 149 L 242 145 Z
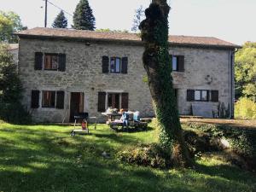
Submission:
M 73 120 L 78 112 L 102 119 L 108 107 L 154 116 L 137 34 L 33 28 L 18 32 L 23 103 L 35 121 Z M 180 114 L 234 113 L 234 53 L 218 38 L 170 36 Z M 170 63 L 171 65 L 171 63 Z

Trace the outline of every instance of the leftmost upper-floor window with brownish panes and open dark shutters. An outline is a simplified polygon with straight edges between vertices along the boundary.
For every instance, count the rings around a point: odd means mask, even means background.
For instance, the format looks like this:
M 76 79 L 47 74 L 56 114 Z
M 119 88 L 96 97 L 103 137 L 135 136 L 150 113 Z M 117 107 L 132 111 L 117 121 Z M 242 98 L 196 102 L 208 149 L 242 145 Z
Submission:
M 64 72 L 66 70 L 66 54 L 35 53 L 35 70 L 54 70 Z

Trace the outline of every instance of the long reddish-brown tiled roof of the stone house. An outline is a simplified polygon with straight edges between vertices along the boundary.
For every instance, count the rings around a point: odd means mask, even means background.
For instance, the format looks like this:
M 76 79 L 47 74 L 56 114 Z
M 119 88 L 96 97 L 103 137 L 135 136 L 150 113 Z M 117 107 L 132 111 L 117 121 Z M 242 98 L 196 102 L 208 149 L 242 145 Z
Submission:
M 141 42 L 141 38 L 135 33 L 123 32 L 93 32 L 87 30 L 56 29 L 36 27 L 26 31 L 16 33 L 20 37 L 43 37 L 43 38 L 79 38 L 95 39 L 103 41 L 124 41 Z M 170 44 L 190 45 L 190 46 L 208 46 L 239 48 L 239 45 L 231 44 L 224 40 L 212 37 L 192 37 L 192 36 L 169 36 Z

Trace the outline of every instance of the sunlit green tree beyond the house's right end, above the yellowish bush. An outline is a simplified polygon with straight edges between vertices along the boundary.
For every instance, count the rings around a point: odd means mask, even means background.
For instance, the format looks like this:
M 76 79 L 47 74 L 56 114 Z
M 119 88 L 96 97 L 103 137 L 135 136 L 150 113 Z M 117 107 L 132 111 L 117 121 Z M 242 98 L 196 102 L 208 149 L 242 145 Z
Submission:
M 256 102 L 256 43 L 247 42 L 236 53 L 236 98 L 247 96 Z

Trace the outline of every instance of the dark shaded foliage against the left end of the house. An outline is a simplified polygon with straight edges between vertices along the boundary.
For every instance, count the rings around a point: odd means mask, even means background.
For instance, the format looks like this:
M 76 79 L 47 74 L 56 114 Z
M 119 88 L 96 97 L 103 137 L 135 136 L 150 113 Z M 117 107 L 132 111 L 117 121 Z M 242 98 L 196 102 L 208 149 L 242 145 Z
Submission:
M 28 123 L 29 113 L 20 104 L 21 83 L 13 55 L 6 44 L 0 44 L 0 119 L 13 123 Z

